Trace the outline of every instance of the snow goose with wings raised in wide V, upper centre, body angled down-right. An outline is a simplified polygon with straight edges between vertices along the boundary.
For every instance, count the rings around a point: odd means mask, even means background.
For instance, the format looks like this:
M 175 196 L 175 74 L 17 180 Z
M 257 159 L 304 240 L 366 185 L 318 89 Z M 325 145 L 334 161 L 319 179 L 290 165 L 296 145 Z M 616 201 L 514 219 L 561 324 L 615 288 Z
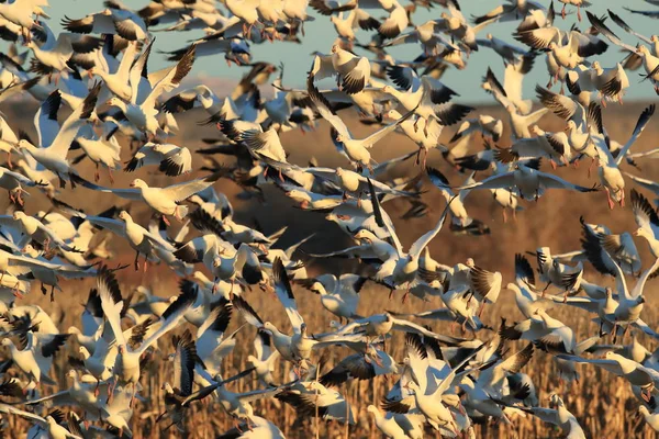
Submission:
M 403 115 L 396 122 L 389 124 L 376 133 L 364 139 L 356 139 L 350 134 L 350 131 L 346 126 L 346 124 L 342 121 L 342 119 L 336 114 L 336 112 L 332 109 L 330 102 L 325 99 L 323 94 L 319 92 L 319 89 L 313 85 L 313 77 L 310 76 L 306 80 L 306 87 L 309 91 L 309 97 L 311 101 L 314 103 L 319 113 L 336 130 L 338 135 L 336 136 L 337 142 L 340 143 L 343 150 L 347 155 L 347 157 L 356 164 L 360 168 L 368 168 L 372 171 L 372 158 L 369 153 L 369 149 L 384 136 L 387 136 L 390 132 L 394 131 L 398 125 L 400 125 L 403 121 L 412 116 L 413 112 L 409 112 Z

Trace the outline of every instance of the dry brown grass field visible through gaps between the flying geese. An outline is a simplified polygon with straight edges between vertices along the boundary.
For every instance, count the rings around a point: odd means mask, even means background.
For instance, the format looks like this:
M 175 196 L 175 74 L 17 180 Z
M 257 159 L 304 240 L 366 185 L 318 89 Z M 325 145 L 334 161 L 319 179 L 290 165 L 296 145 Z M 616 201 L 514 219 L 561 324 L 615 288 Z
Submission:
M 644 105 L 635 103 L 626 103 L 624 106 L 610 105 L 603 110 L 604 119 L 610 134 L 613 138 L 624 143 L 626 137 L 632 132 L 637 116 Z M 11 109 L 2 109 L 11 111 Z M 481 111 L 494 115 L 502 116 L 501 112 L 495 109 L 482 109 Z M 185 145 L 190 149 L 197 149 L 202 146 L 200 138 L 214 137 L 215 131 L 212 127 L 200 130 L 194 125 L 193 121 L 202 119 L 199 113 L 185 114 L 179 117 L 181 133 L 175 143 Z M 357 134 L 362 134 L 371 128 L 356 126 L 353 124 Z M 559 121 L 554 116 L 546 116 L 540 126 L 546 131 L 561 130 Z M 29 127 L 25 126 L 26 128 Z M 454 130 L 447 130 L 443 135 L 444 139 L 448 139 Z M 635 150 L 646 150 L 657 146 L 656 139 L 659 138 L 659 125 L 651 123 L 645 131 L 640 142 L 635 146 Z M 507 133 L 504 133 L 502 138 L 507 138 Z M 312 156 L 319 159 L 322 165 L 342 165 L 340 157 L 334 151 L 332 146 L 326 124 L 322 123 L 321 127 L 314 133 L 301 135 L 299 132 L 282 135 L 282 143 L 287 150 L 291 153 L 290 161 L 304 164 Z M 481 146 L 480 137 L 474 137 L 474 151 Z M 501 145 L 509 146 L 509 145 Z M 382 144 L 376 146 L 375 158 L 384 160 L 390 157 L 395 157 L 406 151 L 411 151 L 415 146 L 401 135 L 389 136 Z M 129 148 L 122 155 L 122 158 L 130 157 Z M 223 160 L 219 158 L 219 160 Z M 230 159 L 226 159 L 227 162 Z M 443 171 L 446 171 L 449 180 L 459 181 L 465 177 L 458 175 L 453 168 L 443 161 L 438 151 L 433 151 L 429 156 L 429 165 L 436 166 Z M 345 164 L 343 164 L 345 166 Z M 569 168 L 560 169 L 558 175 L 561 177 L 578 182 L 584 185 L 592 185 L 594 179 L 588 180 L 585 168 L 589 162 L 581 164 L 579 169 Z M 659 162 L 651 160 L 640 161 L 644 175 L 647 178 L 659 179 Z M 548 167 L 548 164 L 544 164 Z M 625 170 L 637 172 L 635 169 L 625 165 Z M 412 175 L 420 172 L 420 168 L 414 166 L 413 160 L 410 160 L 404 166 L 395 170 L 396 175 Z M 92 178 L 93 169 L 89 164 L 82 166 L 81 175 Z M 147 181 L 154 184 L 165 183 L 164 177 L 149 176 L 147 171 L 141 171 L 136 175 L 141 178 L 146 178 Z M 126 187 L 127 182 L 134 178 L 133 175 L 118 176 L 116 185 Z M 477 176 L 477 179 L 479 177 Z M 105 179 L 105 176 L 103 176 Z M 103 180 L 103 183 L 109 183 Z M 627 192 L 633 187 L 630 181 L 627 181 Z M 216 189 L 225 192 L 234 202 L 236 216 L 239 222 L 252 224 L 254 218 L 257 218 L 264 225 L 265 232 L 273 232 L 283 225 L 289 226 L 284 236 L 284 244 L 291 243 L 298 237 L 306 236 L 311 233 L 316 233 L 316 236 L 308 243 L 303 248 L 306 251 L 313 252 L 317 250 L 330 250 L 339 248 L 345 244 L 345 239 L 340 232 L 323 218 L 323 214 L 314 214 L 302 212 L 291 207 L 289 201 L 284 200 L 276 189 L 266 191 L 266 203 L 258 201 L 241 201 L 235 198 L 239 192 L 231 181 L 221 181 L 216 184 Z M 429 214 L 423 218 L 400 219 L 401 214 L 406 210 L 406 203 L 393 201 L 384 205 L 384 209 L 394 219 L 396 230 L 403 240 L 403 245 L 409 245 L 416 239 L 421 234 L 425 233 L 431 225 L 435 223 L 440 211 L 444 209 L 444 199 L 439 196 L 437 191 L 431 185 L 426 185 L 427 192 L 423 195 L 423 200 L 428 203 Z M 92 192 L 83 188 L 78 188 L 72 192 L 67 192 L 64 201 L 85 209 L 86 212 L 96 213 L 108 207 L 110 202 L 108 196 L 98 198 Z M 121 203 L 120 203 L 121 204 Z M 549 191 L 538 202 L 525 203 L 525 210 L 518 212 L 517 221 L 509 221 L 503 223 L 501 210 L 491 200 L 489 193 L 473 193 L 467 202 L 469 213 L 483 221 L 492 230 L 491 235 L 481 237 L 457 236 L 451 235 L 447 229 L 434 239 L 431 244 L 431 252 L 435 259 L 443 263 L 455 264 L 465 262 L 468 257 L 472 257 L 477 263 L 492 271 L 501 271 L 504 277 L 503 284 L 512 281 L 513 277 L 513 257 L 516 252 L 534 250 L 539 246 L 549 246 L 556 252 L 569 251 L 579 248 L 580 224 L 578 218 L 583 215 L 589 223 L 599 223 L 608 226 L 615 233 L 624 230 L 634 230 L 636 225 L 632 216 L 632 211 L 628 206 L 621 209 L 616 206 L 614 211 L 608 211 L 604 192 L 595 193 L 561 193 L 560 191 Z M 40 194 L 34 194 L 27 204 L 29 213 L 34 213 L 38 210 L 47 209 L 47 200 Z M 138 219 L 147 221 L 148 212 L 144 206 L 130 206 L 133 216 Z M 174 225 L 176 227 L 176 224 Z M 641 255 L 645 257 L 644 268 L 647 268 L 650 258 L 648 257 L 647 246 L 643 241 L 637 241 Z M 125 244 L 120 239 L 113 239 L 112 246 L 118 250 L 119 257 L 112 263 L 131 262 L 134 254 L 125 251 Z M 358 269 L 351 262 L 332 261 L 324 264 L 324 261 L 309 261 L 310 274 L 321 272 L 323 270 L 343 270 L 355 271 Z M 143 284 L 153 289 L 155 294 L 161 296 L 170 296 L 177 293 L 177 281 L 166 268 L 150 267 L 146 273 L 134 272 L 132 268 L 125 269 L 118 274 L 124 296 L 131 289 L 138 284 Z M 611 279 L 602 279 L 594 273 L 592 267 L 588 266 L 584 274 L 591 282 L 605 282 L 611 284 Z M 634 282 L 632 280 L 632 282 Z M 62 309 L 64 318 L 60 323 L 62 330 L 70 325 L 79 322 L 80 306 L 87 299 L 87 292 L 92 285 L 92 281 L 76 281 L 64 284 L 64 292 L 56 294 L 56 302 L 51 303 L 47 297 L 38 293 L 38 288 L 35 285 L 31 295 L 26 296 L 22 302 L 37 303 L 46 311 Z M 657 299 L 656 290 L 659 288 L 659 280 L 654 280 L 646 286 L 646 306 L 643 318 L 654 328 L 659 325 L 659 300 Z M 304 290 L 295 290 L 300 312 L 304 316 L 310 330 L 312 333 L 325 331 L 328 328 L 328 322 L 332 319 L 319 304 L 317 296 Z M 272 305 L 272 296 L 269 293 L 264 293 L 258 289 L 246 293 L 247 301 L 259 312 L 259 314 L 271 320 L 278 327 L 284 330 L 289 328 L 283 308 L 279 304 Z M 395 308 L 404 311 L 422 311 L 435 308 L 439 306 L 439 301 L 435 300 L 429 303 L 422 303 L 418 300 L 412 299 L 405 304 L 401 304 L 401 293 L 396 293 L 394 299 L 389 301 L 388 291 L 376 284 L 368 283 L 361 292 L 361 302 L 359 313 L 369 315 L 380 313 L 384 309 Z M 581 340 L 596 334 L 596 326 L 590 322 L 590 316 L 582 311 L 570 309 L 565 306 L 557 306 L 550 314 L 569 324 L 576 331 L 577 339 Z M 485 308 L 483 319 L 487 324 L 496 327 L 500 318 L 506 317 L 509 322 L 521 320 L 522 314 L 515 308 L 513 294 L 509 291 L 502 291 L 499 302 Z M 230 330 L 237 328 L 243 324 L 242 317 L 234 313 Z M 448 334 L 450 331 L 449 324 L 433 323 L 433 329 L 438 333 Z M 481 331 L 479 338 L 488 339 L 492 333 Z M 226 359 L 223 364 L 224 375 L 228 376 L 245 368 L 246 357 L 250 353 L 254 329 L 245 327 L 238 335 L 238 345 L 233 354 Z M 470 337 L 468 334 L 467 337 Z M 160 341 L 160 352 L 171 351 L 169 339 Z M 628 337 L 625 342 L 628 342 Z M 657 347 L 651 339 L 639 335 L 639 340 L 646 345 L 649 350 Z M 603 339 L 603 342 L 610 342 L 610 339 Z M 404 345 L 402 337 L 396 335 L 393 342 L 388 345 L 390 353 L 398 360 L 402 361 L 404 357 Z M 510 344 L 511 351 L 520 349 L 522 344 Z M 64 374 L 69 369 L 66 363 L 69 353 L 75 351 L 75 341 L 70 341 L 67 348 L 60 352 L 54 367 L 55 378 L 60 383 L 65 383 Z M 340 359 L 344 352 L 333 350 L 331 357 L 331 367 L 334 361 Z M 277 370 L 278 378 L 288 374 L 287 364 L 284 370 L 281 370 L 282 364 L 279 364 Z M 604 372 L 594 367 L 582 365 L 580 368 L 581 378 L 579 382 L 567 384 L 561 382 L 556 373 L 556 367 L 549 354 L 536 351 L 532 361 L 523 369 L 523 372 L 529 374 L 534 380 L 540 405 L 547 406 L 548 397 L 551 393 L 559 394 L 570 412 L 579 419 L 588 437 L 591 438 L 651 438 L 655 437 L 654 431 L 644 425 L 643 420 L 637 415 L 638 404 L 630 393 L 629 385 L 622 379 L 616 379 L 612 374 Z M 171 365 L 166 361 L 164 354 L 156 354 L 155 361 L 149 364 L 149 370 L 144 371 L 142 384 L 145 387 L 143 396 L 146 397 L 146 403 L 138 403 L 136 414 L 133 419 L 132 429 L 136 438 L 167 438 L 180 436 L 174 428 L 167 431 L 161 431 L 156 424 L 156 417 L 164 409 L 161 384 L 171 375 Z M 286 375 L 288 376 L 288 375 Z M 340 389 L 340 392 L 346 396 L 351 404 L 356 415 L 357 424 L 346 429 L 339 424 L 327 424 L 324 421 L 314 423 L 313 420 L 298 419 L 293 409 L 288 406 L 280 406 L 271 401 L 258 402 L 255 404 L 255 413 L 264 416 L 276 425 L 278 425 L 283 434 L 291 439 L 295 438 L 379 438 L 381 435 L 375 428 L 372 419 L 368 416 L 366 407 L 368 404 L 378 404 L 389 386 L 393 384 L 393 378 L 377 378 L 371 382 L 353 381 Z M 243 391 L 254 389 L 256 382 L 249 379 L 233 384 L 232 389 Z M 54 389 L 45 387 L 45 393 L 52 392 Z M 228 419 L 219 407 L 212 403 L 204 402 L 198 404 L 192 409 L 191 416 L 188 419 L 187 427 L 191 438 L 213 438 L 233 426 L 233 421 Z M 481 425 L 477 428 L 477 437 L 483 438 L 548 438 L 560 437 L 560 431 L 551 428 L 551 426 L 543 424 L 533 417 L 515 418 L 514 426 L 505 425 Z M 26 424 L 16 418 L 9 420 L 9 428 L 4 429 L 4 435 L 10 438 L 24 437 Z M 434 434 L 428 431 L 426 437 L 434 437 Z

